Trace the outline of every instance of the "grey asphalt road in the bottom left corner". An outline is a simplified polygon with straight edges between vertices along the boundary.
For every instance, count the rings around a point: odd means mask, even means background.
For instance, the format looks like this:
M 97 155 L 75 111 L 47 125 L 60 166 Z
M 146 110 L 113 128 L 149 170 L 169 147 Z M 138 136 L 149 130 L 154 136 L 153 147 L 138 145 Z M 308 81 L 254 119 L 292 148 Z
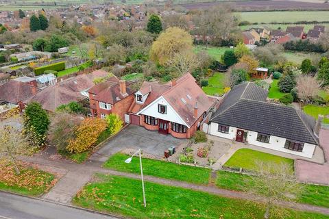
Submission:
M 0 192 L 0 218 L 5 219 L 118 219 L 90 211 Z

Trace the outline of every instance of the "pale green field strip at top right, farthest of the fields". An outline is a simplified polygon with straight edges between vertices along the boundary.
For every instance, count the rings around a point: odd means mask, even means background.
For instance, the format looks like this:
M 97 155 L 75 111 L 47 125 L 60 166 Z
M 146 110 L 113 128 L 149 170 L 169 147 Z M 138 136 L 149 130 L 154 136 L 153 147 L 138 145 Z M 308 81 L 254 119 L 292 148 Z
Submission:
M 241 21 L 250 23 L 297 22 L 297 21 L 329 21 L 326 11 L 284 11 L 284 12 L 239 12 Z

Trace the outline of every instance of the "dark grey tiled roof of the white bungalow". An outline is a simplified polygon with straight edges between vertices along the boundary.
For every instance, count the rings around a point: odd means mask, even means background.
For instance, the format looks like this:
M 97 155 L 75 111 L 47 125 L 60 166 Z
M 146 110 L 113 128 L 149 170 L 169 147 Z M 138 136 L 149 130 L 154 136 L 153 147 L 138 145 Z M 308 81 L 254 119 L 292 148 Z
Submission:
M 247 83 L 253 84 L 254 83 Z M 256 86 L 256 85 L 254 85 Z M 267 91 L 245 83 L 225 97 L 210 122 L 247 129 L 290 140 L 318 144 L 315 120 L 293 107 L 265 102 Z

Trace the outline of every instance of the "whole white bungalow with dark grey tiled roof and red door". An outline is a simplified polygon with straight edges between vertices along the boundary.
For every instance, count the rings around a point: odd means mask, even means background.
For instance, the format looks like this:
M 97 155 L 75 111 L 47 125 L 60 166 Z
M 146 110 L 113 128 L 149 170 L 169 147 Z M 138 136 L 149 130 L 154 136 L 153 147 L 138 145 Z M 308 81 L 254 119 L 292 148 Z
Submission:
M 234 86 L 208 126 L 212 136 L 311 158 L 318 147 L 315 119 L 294 107 L 267 103 L 252 82 Z

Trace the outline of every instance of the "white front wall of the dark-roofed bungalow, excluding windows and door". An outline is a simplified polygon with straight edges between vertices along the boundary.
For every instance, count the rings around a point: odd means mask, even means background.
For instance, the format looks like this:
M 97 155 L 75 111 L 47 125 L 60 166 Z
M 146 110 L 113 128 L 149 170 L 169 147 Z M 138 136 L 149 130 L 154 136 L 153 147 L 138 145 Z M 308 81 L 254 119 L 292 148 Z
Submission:
M 219 136 L 221 138 L 235 139 L 236 138 L 236 127 L 230 127 L 228 133 L 221 133 L 218 131 L 218 124 L 211 123 L 208 129 L 208 133 L 212 136 Z M 243 130 L 243 129 L 242 129 Z M 247 130 L 245 130 L 247 131 Z M 267 149 L 272 149 L 276 151 L 282 151 L 284 153 L 290 153 L 293 155 L 299 155 L 302 157 L 312 158 L 316 145 L 304 143 L 304 148 L 302 152 L 291 151 L 289 149 L 284 149 L 284 144 L 286 142 L 286 138 L 280 138 L 277 136 L 270 136 L 269 143 L 258 142 L 257 140 L 257 132 L 256 131 L 247 131 L 247 143 L 253 144 L 256 146 L 262 146 Z

